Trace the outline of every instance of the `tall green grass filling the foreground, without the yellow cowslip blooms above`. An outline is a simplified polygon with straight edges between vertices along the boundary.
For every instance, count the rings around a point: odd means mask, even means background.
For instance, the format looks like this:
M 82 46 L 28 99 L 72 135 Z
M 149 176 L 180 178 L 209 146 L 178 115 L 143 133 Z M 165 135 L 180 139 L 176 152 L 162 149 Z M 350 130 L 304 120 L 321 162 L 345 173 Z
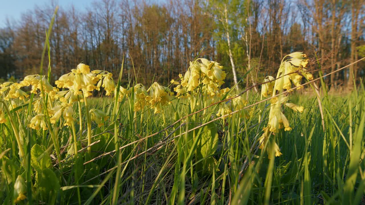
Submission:
M 50 49 L 48 35 L 45 48 Z M 72 104 L 72 126 L 62 118 L 52 124 L 44 109 L 48 129 L 27 127 L 29 116 L 37 114 L 34 101 L 55 105 L 44 90 L 5 113 L 3 204 L 364 202 L 362 84 L 346 96 L 329 95 L 324 81 L 318 95 L 289 93 L 289 101 L 303 105 L 304 112 L 283 107 L 292 130 L 281 129 L 260 144 L 270 101 L 259 93 L 246 90 L 248 105 L 241 107 L 227 99 L 234 89 L 211 98 L 197 87 L 187 98 L 171 96 L 155 113 L 153 105 L 136 108 L 137 78 L 127 85 L 131 92 L 121 94 L 121 76 L 115 96 Z M 230 113 L 218 117 L 222 105 Z M 85 115 L 92 108 L 109 116 L 101 127 Z M 274 155 L 275 143 L 283 155 L 269 159 L 266 151 Z

